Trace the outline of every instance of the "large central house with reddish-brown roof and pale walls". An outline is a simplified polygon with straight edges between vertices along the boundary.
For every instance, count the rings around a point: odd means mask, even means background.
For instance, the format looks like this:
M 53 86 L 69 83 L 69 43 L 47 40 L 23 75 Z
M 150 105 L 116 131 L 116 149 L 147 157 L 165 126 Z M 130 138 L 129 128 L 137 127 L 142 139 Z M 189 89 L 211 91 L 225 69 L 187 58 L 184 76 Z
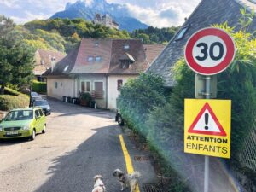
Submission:
M 122 84 L 148 69 L 149 61 L 160 54 L 160 47 L 164 49 L 159 44 L 155 44 L 154 51 L 154 45 L 146 49 L 138 39 L 84 38 L 76 49 L 44 73 L 47 94 L 61 99 L 89 92 L 95 96 L 97 107 L 114 109 Z

